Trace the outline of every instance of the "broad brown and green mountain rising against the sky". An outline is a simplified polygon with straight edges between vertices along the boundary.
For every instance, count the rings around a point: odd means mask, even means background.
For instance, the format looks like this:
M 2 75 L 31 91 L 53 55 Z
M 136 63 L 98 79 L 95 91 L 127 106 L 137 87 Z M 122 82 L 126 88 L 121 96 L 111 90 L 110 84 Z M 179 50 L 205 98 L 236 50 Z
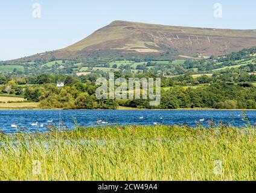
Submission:
M 174 59 L 223 55 L 256 46 L 256 30 L 174 27 L 114 21 L 67 48 L 32 55 L 34 59 L 113 60 L 117 58 Z

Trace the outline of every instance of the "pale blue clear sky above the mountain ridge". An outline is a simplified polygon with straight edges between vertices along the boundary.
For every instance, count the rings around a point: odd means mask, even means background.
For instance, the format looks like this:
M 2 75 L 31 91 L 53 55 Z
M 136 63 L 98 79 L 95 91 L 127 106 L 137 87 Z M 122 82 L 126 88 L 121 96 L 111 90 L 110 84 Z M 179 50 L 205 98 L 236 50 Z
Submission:
M 256 29 L 255 18 L 255 0 L 1 0 L 0 60 L 65 48 L 116 20 Z

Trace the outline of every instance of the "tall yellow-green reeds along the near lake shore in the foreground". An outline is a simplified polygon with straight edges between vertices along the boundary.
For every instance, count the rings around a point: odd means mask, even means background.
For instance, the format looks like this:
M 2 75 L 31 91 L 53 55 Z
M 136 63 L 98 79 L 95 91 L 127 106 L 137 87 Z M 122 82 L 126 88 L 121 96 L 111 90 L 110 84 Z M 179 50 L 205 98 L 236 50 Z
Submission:
M 256 180 L 254 128 L 0 134 L 0 180 Z

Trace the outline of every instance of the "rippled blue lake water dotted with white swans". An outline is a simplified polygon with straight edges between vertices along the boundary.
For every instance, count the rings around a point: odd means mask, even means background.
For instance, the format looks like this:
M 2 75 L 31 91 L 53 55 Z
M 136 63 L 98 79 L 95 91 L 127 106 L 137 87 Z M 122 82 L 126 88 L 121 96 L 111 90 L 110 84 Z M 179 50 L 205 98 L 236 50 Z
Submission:
M 246 111 L 252 125 L 256 122 L 256 111 Z M 143 118 L 142 118 L 143 117 Z M 53 119 L 53 122 L 48 122 Z M 207 126 L 207 121 L 222 121 L 243 127 L 247 124 L 242 118 L 241 110 L 62 110 L 61 119 L 65 128 L 74 128 L 74 119 L 78 125 L 96 126 L 97 120 L 108 122 L 109 125 L 181 125 L 196 127 L 196 121 Z M 37 126 L 32 124 L 38 122 Z M 5 133 L 16 133 L 17 128 L 26 131 L 46 131 L 47 125 L 59 127 L 58 110 L 0 110 L 0 130 Z M 41 127 L 43 124 L 43 127 Z M 106 124 L 103 124 L 106 125 Z

